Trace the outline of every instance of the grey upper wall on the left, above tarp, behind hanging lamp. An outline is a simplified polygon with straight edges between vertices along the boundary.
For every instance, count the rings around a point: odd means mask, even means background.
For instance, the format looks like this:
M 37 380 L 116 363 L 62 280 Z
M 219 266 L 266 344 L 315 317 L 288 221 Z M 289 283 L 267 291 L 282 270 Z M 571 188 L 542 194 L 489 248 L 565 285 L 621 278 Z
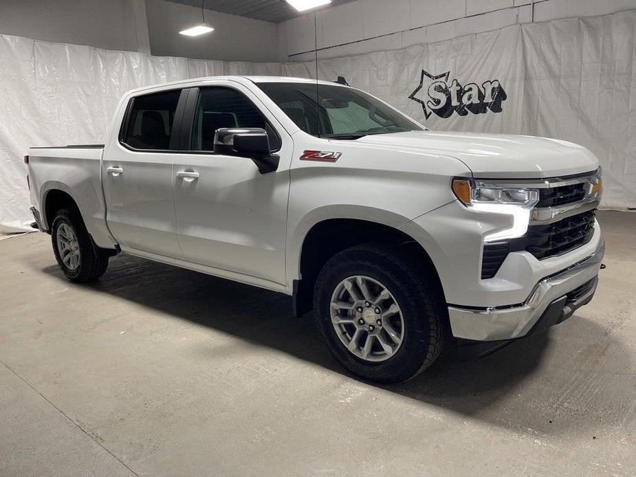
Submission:
M 204 60 L 278 61 L 278 25 L 165 0 L 0 0 L 0 34 L 54 43 Z

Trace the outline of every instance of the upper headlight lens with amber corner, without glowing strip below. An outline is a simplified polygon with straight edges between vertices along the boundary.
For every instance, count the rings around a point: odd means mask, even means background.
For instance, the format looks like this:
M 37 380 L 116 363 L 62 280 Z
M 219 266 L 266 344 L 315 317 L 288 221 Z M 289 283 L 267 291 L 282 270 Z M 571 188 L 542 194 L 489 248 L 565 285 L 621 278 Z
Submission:
M 531 209 L 539 201 L 538 189 L 496 187 L 470 179 L 454 179 L 452 191 L 464 206 L 502 204 Z

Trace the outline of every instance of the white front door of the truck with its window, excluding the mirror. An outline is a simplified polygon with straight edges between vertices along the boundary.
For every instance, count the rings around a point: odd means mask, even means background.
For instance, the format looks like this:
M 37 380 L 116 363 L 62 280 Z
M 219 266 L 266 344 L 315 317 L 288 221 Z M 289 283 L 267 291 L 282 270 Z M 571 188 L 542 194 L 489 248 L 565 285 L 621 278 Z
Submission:
M 213 153 L 223 127 L 265 129 L 278 169 L 261 174 L 252 159 Z M 218 82 L 190 93 L 182 139 L 175 209 L 186 260 L 284 284 L 291 137 L 249 89 Z

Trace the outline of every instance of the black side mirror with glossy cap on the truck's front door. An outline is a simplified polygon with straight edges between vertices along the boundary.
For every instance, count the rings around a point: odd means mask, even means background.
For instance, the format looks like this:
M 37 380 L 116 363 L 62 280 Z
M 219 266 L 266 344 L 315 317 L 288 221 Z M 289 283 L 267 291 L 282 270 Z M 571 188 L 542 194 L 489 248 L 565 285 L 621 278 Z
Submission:
M 270 139 L 262 128 L 220 128 L 215 133 L 214 153 L 249 157 L 261 174 L 278 168 L 277 155 L 270 149 Z

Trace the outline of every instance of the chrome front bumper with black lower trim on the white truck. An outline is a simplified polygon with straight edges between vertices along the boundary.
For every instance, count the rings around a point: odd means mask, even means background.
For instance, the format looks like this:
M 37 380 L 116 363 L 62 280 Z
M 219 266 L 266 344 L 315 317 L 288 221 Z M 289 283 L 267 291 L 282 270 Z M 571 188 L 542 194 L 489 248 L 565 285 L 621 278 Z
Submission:
M 518 305 L 485 309 L 448 307 L 452 334 L 481 342 L 513 340 L 566 320 L 592 299 L 604 253 L 605 241 L 600 239 L 593 254 L 540 280 Z

